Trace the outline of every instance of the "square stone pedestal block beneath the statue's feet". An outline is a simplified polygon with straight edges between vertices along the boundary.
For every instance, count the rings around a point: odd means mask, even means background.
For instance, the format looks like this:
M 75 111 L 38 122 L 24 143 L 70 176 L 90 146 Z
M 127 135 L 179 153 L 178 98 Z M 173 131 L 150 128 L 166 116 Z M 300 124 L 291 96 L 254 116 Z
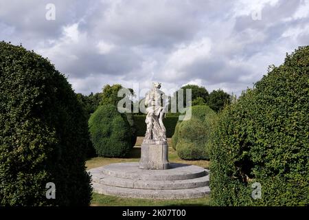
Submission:
M 165 170 L 169 168 L 168 144 L 141 144 L 139 168 L 148 170 Z

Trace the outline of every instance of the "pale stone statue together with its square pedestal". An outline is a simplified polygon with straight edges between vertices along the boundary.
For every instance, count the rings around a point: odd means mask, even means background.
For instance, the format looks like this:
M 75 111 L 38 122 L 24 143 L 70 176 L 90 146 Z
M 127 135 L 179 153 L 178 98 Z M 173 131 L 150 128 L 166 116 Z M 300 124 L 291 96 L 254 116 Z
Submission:
M 141 144 L 141 160 L 139 168 L 149 170 L 164 170 L 169 168 L 168 142 L 163 124 L 165 116 L 166 96 L 160 90 L 161 83 L 152 83 L 152 90 L 145 98 L 147 130 Z

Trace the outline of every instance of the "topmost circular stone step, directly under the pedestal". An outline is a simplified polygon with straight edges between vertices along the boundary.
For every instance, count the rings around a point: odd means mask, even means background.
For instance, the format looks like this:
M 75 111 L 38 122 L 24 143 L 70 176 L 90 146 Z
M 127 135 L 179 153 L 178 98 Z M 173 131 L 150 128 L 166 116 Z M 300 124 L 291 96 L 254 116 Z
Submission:
M 188 164 L 170 163 L 167 170 L 145 170 L 139 168 L 138 162 L 108 164 L 89 170 L 91 173 L 102 173 L 124 179 L 142 180 L 181 180 L 194 179 L 207 175 L 207 171 L 200 167 Z

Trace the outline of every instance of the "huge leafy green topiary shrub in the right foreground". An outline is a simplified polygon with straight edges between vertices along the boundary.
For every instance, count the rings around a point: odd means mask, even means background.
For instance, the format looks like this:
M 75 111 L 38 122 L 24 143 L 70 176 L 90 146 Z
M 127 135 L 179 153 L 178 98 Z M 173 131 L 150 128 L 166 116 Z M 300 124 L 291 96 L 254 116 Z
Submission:
M 306 46 L 220 113 L 211 147 L 214 205 L 309 204 L 308 88 Z

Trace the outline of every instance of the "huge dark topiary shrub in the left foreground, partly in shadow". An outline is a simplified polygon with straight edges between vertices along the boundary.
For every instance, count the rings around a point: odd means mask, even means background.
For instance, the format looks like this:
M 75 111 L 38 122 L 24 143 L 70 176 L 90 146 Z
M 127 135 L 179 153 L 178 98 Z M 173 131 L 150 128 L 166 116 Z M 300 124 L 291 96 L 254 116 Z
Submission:
M 87 119 L 65 76 L 0 42 L 0 206 L 87 206 Z M 47 183 L 56 199 L 47 199 Z

